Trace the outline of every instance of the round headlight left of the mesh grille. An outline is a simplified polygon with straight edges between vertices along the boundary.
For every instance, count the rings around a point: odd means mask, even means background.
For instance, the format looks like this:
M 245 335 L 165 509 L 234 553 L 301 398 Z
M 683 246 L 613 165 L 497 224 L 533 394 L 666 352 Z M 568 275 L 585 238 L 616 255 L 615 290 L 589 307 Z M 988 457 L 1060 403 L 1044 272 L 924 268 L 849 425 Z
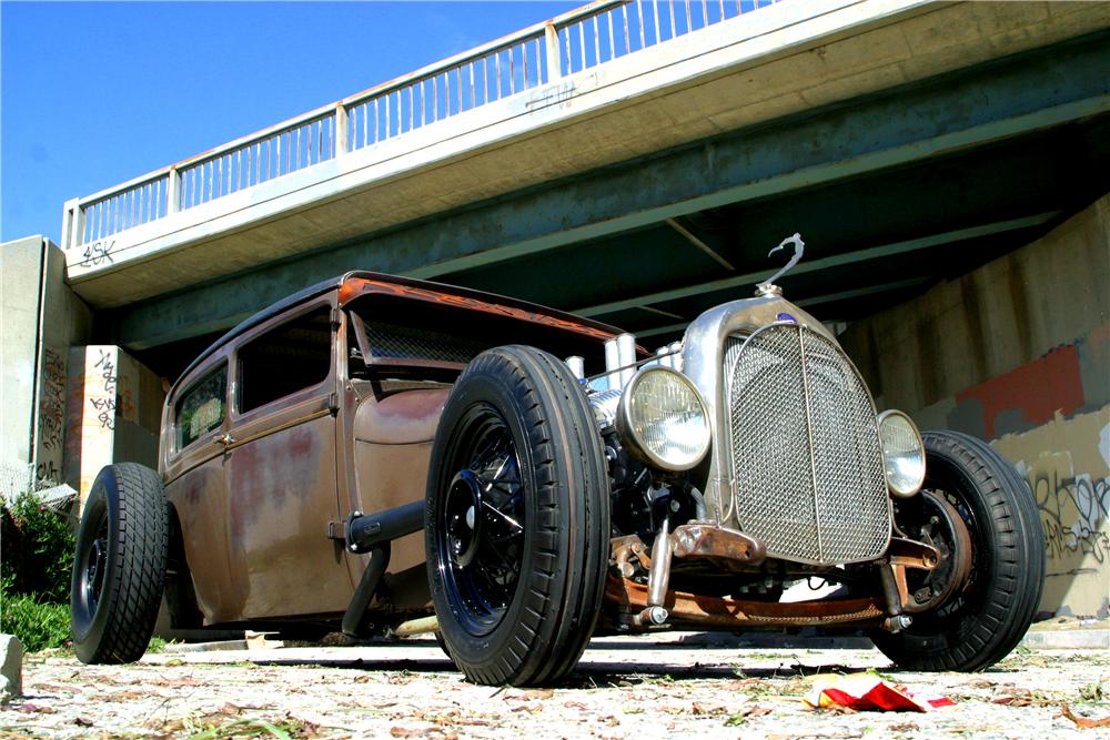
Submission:
M 697 388 L 669 367 L 645 367 L 625 387 L 617 432 L 628 452 L 667 470 L 688 470 L 709 449 L 709 419 Z

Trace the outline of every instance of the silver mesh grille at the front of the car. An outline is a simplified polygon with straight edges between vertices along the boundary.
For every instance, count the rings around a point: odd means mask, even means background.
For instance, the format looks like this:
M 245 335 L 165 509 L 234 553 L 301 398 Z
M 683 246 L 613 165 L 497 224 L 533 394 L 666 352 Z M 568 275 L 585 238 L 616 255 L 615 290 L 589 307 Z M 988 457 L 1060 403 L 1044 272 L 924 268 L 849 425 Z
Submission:
M 878 557 L 890 510 L 875 407 L 837 346 L 798 324 L 725 345 L 736 519 L 768 555 Z

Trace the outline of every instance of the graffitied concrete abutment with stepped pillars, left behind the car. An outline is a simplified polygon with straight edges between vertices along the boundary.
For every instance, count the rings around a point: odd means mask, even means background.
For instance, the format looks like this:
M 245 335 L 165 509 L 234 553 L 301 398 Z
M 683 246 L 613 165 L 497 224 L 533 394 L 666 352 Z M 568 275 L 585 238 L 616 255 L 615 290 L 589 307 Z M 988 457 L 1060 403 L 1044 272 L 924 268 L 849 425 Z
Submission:
M 0 245 L 0 487 L 68 483 L 158 460 L 160 378 L 119 347 L 88 346 L 92 312 L 41 236 Z M 10 489 L 10 490 L 9 490 Z

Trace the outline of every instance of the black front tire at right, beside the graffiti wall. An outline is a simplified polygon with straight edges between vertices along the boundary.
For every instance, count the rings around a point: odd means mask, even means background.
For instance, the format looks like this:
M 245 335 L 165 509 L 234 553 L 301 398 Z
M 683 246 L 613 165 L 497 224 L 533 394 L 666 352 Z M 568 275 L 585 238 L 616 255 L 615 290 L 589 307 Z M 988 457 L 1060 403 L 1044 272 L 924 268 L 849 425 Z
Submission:
M 951 504 L 966 525 L 970 575 L 947 602 L 912 615 L 907 629 L 876 631 L 871 639 L 899 668 L 983 670 L 1017 646 L 1040 604 L 1040 516 L 1026 481 L 987 444 L 956 432 L 931 432 L 924 439 L 924 488 Z M 899 525 L 914 523 L 899 517 Z

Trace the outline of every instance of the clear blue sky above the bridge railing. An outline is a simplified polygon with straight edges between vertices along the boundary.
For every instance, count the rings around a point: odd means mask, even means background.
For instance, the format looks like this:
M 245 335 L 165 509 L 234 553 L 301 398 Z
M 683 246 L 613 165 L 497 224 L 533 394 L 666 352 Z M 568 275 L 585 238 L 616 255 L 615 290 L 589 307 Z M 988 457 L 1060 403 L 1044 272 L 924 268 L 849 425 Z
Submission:
M 585 2 L 0 2 L 0 241 Z

